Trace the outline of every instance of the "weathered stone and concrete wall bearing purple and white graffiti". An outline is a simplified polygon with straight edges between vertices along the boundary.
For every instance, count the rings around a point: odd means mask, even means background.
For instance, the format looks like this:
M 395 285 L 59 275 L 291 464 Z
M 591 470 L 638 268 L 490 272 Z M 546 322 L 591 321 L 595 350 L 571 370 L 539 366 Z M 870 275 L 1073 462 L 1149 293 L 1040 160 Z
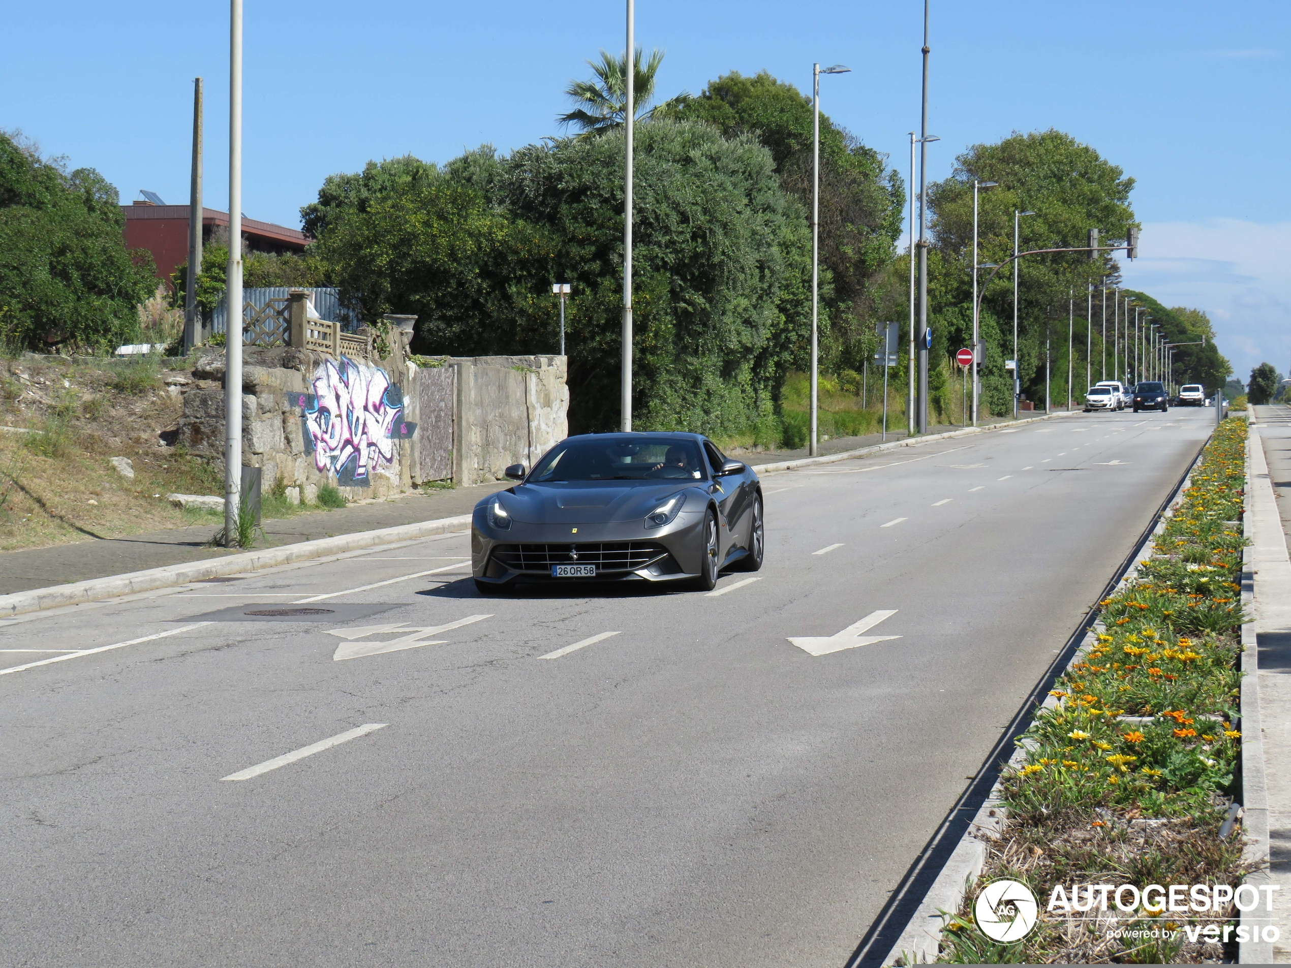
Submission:
M 262 469 L 265 490 L 281 483 L 290 498 L 314 499 L 332 484 L 361 498 L 449 476 L 457 484 L 501 480 L 507 465 L 532 466 L 568 434 L 564 358 L 449 358 L 418 367 L 394 342 L 377 363 L 244 348 L 243 463 Z M 177 435 L 221 466 L 223 376 L 222 351 L 198 360 Z

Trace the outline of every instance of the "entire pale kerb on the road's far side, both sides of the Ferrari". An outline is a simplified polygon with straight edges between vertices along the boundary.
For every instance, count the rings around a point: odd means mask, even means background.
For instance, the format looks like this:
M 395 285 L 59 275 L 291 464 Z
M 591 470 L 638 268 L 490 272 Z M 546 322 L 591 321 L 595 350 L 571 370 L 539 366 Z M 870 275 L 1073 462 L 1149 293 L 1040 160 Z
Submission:
M 782 461 L 780 463 L 754 465 L 759 474 L 775 474 L 778 471 L 793 471 L 799 467 L 811 467 L 821 463 L 834 463 L 837 461 L 849 461 L 866 454 L 891 450 L 901 447 L 915 447 L 918 444 L 948 440 L 971 434 L 984 434 L 1004 427 L 1016 427 L 1021 423 L 1062 417 L 1062 413 L 1044 414 L 1028 419 L 1011 421 L 1010 423 L 997 423 L 991 427 L 966 427 L 945 434 L 930 434 L 928 436 L 910 438 L 908 440 L 893 440 L 887 444 L 873 444 L 844 450 L 838 454 L 825 457 L 804 457 L 797 461 Z M 178 497 L 178 496 L 177 496 Z M 218 499 L 218 498 L 217 498 Z M 48 589 L 32 589 L 12 595 L 0 595 L 0 618 L 8 618 L 27 612 L 41 612 L 49 608 L 63 608 L 66 605 L 80 605 L 101 599 L 117 598 L 120 595 L 136 595 L 145 591 L 156 591 L 176 585 L 201 581 L 204 578 L 221 578 L 229 574 L 241 574 L 243 572 L 258 572 L 276 565 L 306 561 L 315 558 L 340 555 L 347 551 L 358 551 L 381 545 L 392 545 L 402 541 L 414 541 L 417 538 L 447 534 L 470 528 L 471 516 L 458 515 L 456 518 L 440 518 L 431 521 L 418 521 L 416 524 L 402 524 L 395 528 L 381 528 L 378 530 L 355 532 L 352 534 L 338 534 L 332 538 L 318 538 L 315 541 L 302 541 L 296 545 L 266 549 L 263 551 L 244 551 L 236 555 L 208 559 L 205 561 L 192 561 L 188 564 L 165 565 L 163 568 L 150 568 L 143 572 L 127 572 L 112 574 L 105 578 L 90 578 L 83 582 L 68 585 L 53 585 Z

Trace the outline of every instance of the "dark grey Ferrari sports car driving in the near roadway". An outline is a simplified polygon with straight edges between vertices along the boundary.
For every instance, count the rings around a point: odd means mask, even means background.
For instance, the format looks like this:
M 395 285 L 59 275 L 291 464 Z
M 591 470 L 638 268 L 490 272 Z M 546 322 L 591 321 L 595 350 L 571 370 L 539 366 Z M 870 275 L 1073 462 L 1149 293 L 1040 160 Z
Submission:
M 471 573 L 483 592 L 518 582 L 687 581 L 755 572 L 766 547 L 762 484 L 698 434 L 585 434 L 520 483 L 475 505 Z

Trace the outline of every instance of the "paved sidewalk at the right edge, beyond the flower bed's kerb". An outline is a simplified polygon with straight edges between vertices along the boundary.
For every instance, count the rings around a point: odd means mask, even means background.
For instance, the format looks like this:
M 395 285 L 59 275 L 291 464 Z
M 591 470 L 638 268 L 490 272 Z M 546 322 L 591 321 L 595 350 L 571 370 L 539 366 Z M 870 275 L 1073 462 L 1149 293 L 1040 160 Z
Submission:
M 1273 960 L 1291 963 L 1291 407 L 1251 408 L 1255 640 L 1268 799 L 1269 880 L 1279 884 Z M 1266 476 L 1261 475 L 1265 470 Z M 1265 483 L 1266 481 L 1266 483 Z M 1272 492 L 1272 494 L 1270 494 Z M 1281 525 L 1281 533 L 1279 533 Z

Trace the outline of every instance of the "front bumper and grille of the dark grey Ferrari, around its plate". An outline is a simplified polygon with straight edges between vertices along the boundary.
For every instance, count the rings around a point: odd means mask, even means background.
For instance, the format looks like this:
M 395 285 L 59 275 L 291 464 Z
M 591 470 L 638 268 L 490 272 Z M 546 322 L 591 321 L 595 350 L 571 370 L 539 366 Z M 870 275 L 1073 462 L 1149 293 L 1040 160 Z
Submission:
M 683 511 L 664 528 L 640 520 L 609 524 L 528 524 L 507 530 L 488 524 L 483 510 L 471 521 L 471 574 L 496 585 L 511 582 L 679 581 L 700 574 L 704 514 Z M 596 576 L 554 578 L 556 564 L 591 564 Z

